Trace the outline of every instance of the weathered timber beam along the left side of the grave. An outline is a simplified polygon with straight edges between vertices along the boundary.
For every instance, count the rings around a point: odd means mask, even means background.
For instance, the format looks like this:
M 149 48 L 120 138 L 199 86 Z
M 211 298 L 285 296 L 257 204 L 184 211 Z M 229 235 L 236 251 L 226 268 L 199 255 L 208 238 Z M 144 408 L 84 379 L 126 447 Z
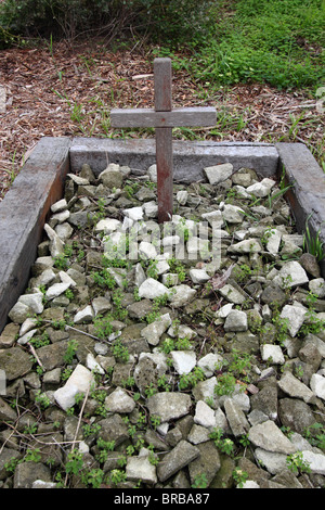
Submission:
M 42 138 L 0 203 L 0 332 L 25 291 L 51 205 L 63 195 L 68 138 Z

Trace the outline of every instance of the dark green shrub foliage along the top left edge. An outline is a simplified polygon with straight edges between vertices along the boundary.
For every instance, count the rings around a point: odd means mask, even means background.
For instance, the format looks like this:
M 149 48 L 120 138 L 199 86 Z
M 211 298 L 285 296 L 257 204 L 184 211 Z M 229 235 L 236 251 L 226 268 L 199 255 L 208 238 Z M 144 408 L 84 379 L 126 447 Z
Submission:
M 73 39 L 87 30 L 104 36 L 122 31 L 150 34 L 155 40 L 183 40 L 202 31 L 211 0 L 4 0 L 0 7 L 0 41 L 15 36 Z

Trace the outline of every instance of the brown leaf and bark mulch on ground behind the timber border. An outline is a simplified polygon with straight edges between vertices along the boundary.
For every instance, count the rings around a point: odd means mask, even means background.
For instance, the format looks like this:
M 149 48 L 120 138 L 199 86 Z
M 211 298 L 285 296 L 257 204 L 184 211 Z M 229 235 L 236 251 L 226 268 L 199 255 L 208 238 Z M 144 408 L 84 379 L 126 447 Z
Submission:
M 96 41 L 1 50 L 0 86 L 6 106 L 0 113 L 0 201 L 41 137 L 118 136 L 109 127 L 112 107 L 153 107 L 152 50 L 112 51 Z M 219 112 L 213 133 L 197 128 L 194 136 L 303 142 L 315 156 L 324 143 L 324 116 L 308 91 L 251 84 L 211 93 L 209 85 L 195 82 L 185 71 L 173 72 L 172 87 L 174 106 L 210 105 Z

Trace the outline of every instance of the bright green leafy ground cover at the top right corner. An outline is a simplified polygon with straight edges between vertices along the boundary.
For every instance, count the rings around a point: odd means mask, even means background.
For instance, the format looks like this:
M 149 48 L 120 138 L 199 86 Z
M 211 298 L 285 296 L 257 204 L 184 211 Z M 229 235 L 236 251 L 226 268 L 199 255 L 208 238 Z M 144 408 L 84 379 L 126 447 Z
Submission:
M 258 81 L 286 89 L 324 80 L 324 2 L 221 1 L 211 15 L 209 35 L 196 37 L 186 63 L 196 79 L 211 85 Z

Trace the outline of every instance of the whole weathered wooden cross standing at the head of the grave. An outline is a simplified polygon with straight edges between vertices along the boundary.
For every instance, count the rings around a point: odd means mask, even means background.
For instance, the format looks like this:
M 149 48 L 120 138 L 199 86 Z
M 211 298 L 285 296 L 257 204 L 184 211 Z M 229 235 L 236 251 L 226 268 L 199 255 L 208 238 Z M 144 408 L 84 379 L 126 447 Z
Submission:
M 176 126 L 213 126 L 213 107 L 171 106 L 171 60 L 154 60 L 155 109 L 113 109 L 112 127 L 156 128 L 156 164 L 158 190 L 158 221 L 170 221 L 172 216 L 172 128 Z

